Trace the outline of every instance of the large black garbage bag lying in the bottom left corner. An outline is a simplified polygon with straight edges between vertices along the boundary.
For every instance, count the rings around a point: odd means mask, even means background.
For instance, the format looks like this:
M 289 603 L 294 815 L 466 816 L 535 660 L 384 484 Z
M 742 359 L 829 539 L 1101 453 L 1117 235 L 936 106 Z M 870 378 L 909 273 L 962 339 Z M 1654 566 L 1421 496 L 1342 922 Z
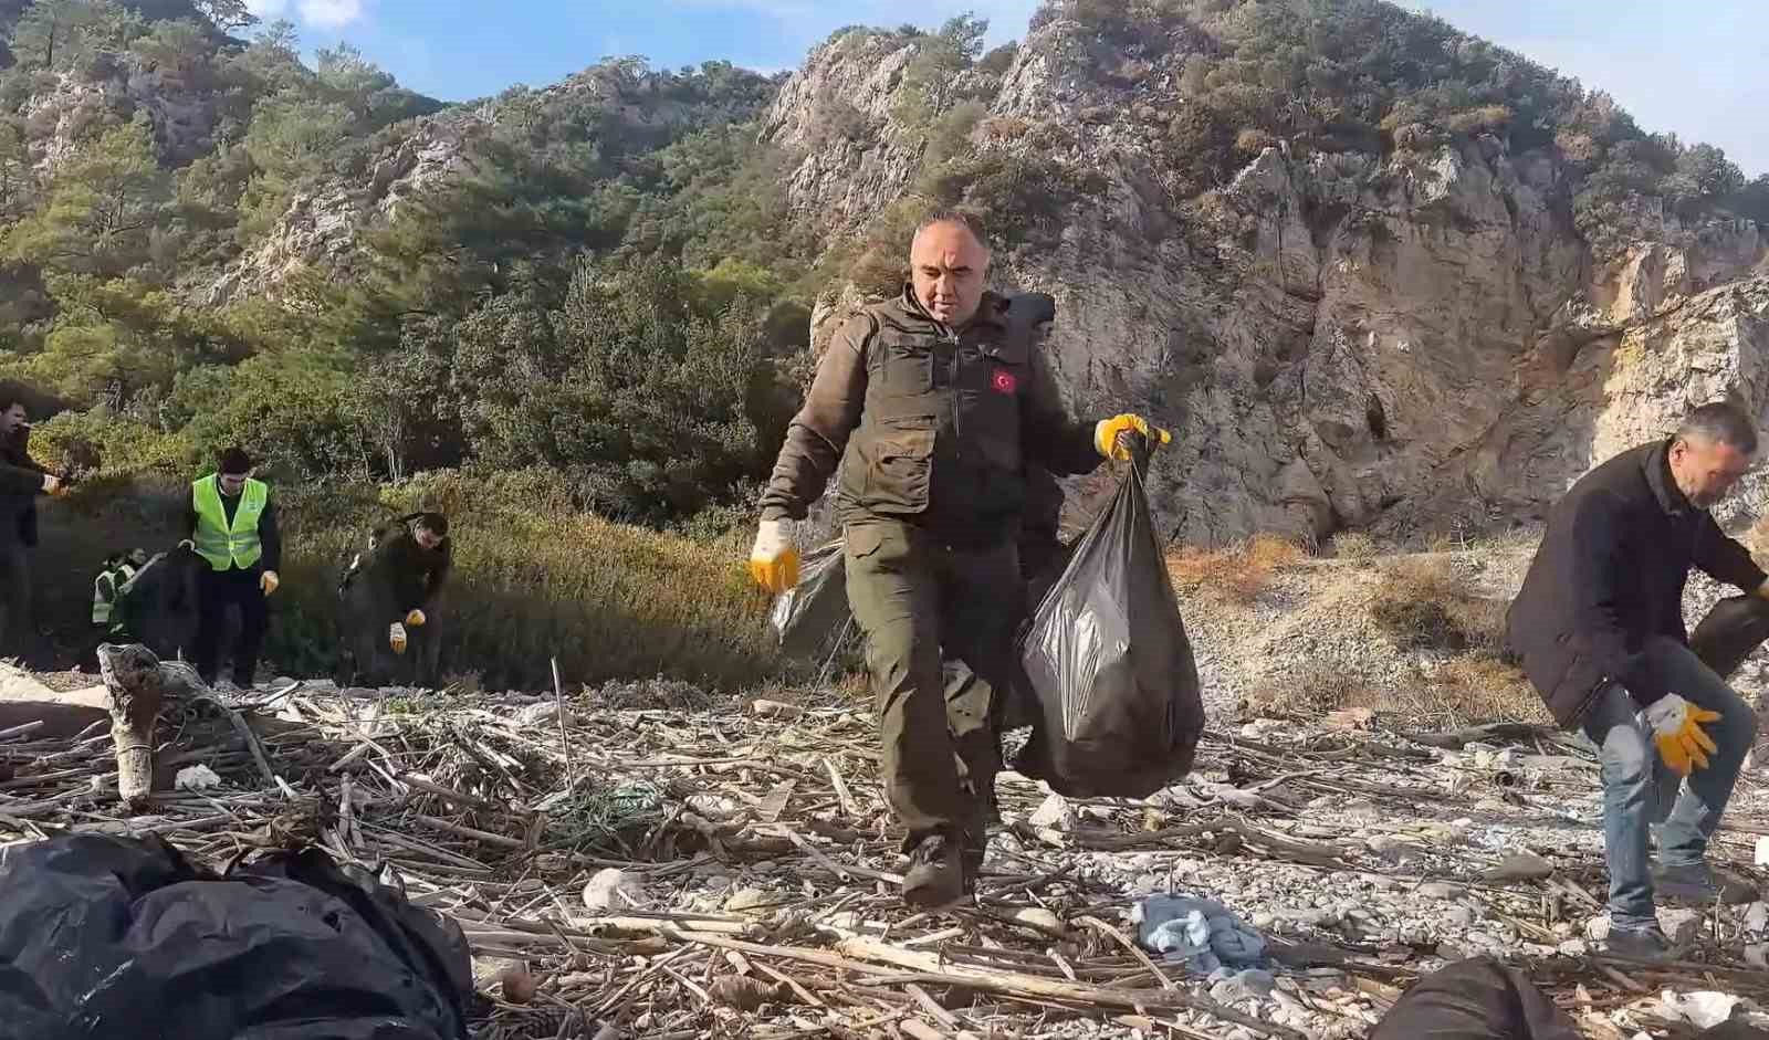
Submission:
M 463 1040 L 465 936 L 318 849 L 219 877 L 159 838 L 0 860 L 0 1035 Z

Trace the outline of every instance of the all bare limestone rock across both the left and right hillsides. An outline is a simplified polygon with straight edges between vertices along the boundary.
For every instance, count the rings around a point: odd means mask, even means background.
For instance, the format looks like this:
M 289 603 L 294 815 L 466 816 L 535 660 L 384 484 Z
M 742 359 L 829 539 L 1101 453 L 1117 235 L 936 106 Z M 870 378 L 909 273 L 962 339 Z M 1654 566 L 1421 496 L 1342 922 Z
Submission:
M 1049 357 L 1072 409 L 1137 410 L 1175 432 L 1150 481 L 1175 541 L 1509 527 L 1691 405 L 1732 396 L 1769 419 L 1769 241 L 1755 223 L 1636 198 L 1596 248 L 1571 216 L 1581 166 L 1555 143 L 1512 152 L 1491 134 L 1396 133 L 1389 150 L 1337 154 L 1249 138 L 1238 170 L 1187 182 L 1169 127 L 1191 103 L 1187 57 L 1214 46 L 1189 39 L 1198 32 L 1123 48 L 1042 18 L 1010 58 L 934 78 L 918 99 L 907 90 L 927 37 L 846 32 L 780 81 L 759 134 L 780 149 L 791 210 L 828 251 L 925 187 L 936 156 L 909 111 L 976 104 L 982 156 L 1065 172 L 1068 196 L 1014 196 L 1049 212 L 1003 235 L 992 281 L 1056 297 Z M 463 172 L 495 120 L 559 96 L 635 127 L 727 115 L 609 64 L 412 119 L 377 134 L 352 177 L 302 186 L 219 274 L 180 288 L 214 306 L 276 295 L 302 269 L 352 278 L 366 230 Z M 748 119 L 757 101 L 729 115 Z M 23 108 L 30 161 L 53 170 L 85 129 L 145 111 L 163 163 L 189 163 L 226 136 L 226 104 L 175 67 L 119 58 L 39 87 Z M 824 292 L 814 352 L 860 302 L 853 287 Z M 1765 479 L 1723 518 L 1755 515 Z M 1111 485 L 1111 469 L 1070 481 L 1072 516 Z

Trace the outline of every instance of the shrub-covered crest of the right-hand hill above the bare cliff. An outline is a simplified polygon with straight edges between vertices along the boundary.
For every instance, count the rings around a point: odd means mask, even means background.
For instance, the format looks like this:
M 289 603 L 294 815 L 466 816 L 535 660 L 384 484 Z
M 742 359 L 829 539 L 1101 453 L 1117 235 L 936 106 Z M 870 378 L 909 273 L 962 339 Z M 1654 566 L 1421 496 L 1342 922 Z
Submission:
M 1769 175 L 1746 182 L 1712 145 L 1640 129 L 1603 92 L 1449 23 L 1380 0 L 1047 0 L 1033 27 L 1081 23 L 1109 76 L 1178 74 L 1166 159 L 1201 193 L 1261 149 L 1428 152 L 1491 134 L 1553 149 L 1574 177 L 1580 233 L 1604 253 L 1643 230 L 1640 202 L 1682 218 L 1723 207 L 1769 221 Z

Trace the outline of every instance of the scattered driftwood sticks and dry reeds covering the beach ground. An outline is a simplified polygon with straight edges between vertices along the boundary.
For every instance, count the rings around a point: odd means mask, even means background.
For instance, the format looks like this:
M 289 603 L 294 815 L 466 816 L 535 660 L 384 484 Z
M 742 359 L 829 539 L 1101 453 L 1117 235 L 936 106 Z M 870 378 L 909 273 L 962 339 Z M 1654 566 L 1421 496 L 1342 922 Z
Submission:
M 626 688 L 616 711 L 557 688 L 352 699 L 285 683 L 226 700 L 142 654 L 104 649 L 110 720 L 55 738 L 41 723 L 0 730 L 0 840 L 152 833 L 218 868 L 302 844 L 391 865 L 414 902 L 467 934 L 486 996 L 481 1038 L 1360 1036 L 1429 962 L 1274 939 L 1279 973 L 1316 983 L 1283 990 L 1325 1022 L 1304 1033 L 1152 960 L 1125 923 L 1134 900 L 1079 868 L 1185 851 L 1245 870 L 1283 861 L 1417 883 L 1298 837 L 1306 812 L 1284 796 L 1357 794 L 1398 815 L 1440 799 L 1422 778 L 1444 752 L 1398 736 L 1277 746 L 1212 734 L 1198 775 L 1224 780 L 1221 798 L 1183 821 L 1097 803 L 1086 826 L 1035 828 L 1024 821 L 1045 792 L 1008 775 L 1003 815 L 1021 844 L 991 853 L 975 902 L 913 913 L 897 899 L 900 837 L 879 798 L 874 723 L 833 693 L 681 711 L 633 706 Z M 196 764 L 221 785 L 177 791 L 175 775 Z M 1470 860 L 1467 876 L 1489 867 Z M 619 883 L 586 900 L 605 870 Z M 1599 904 L 1566 876 L 1489 895 L 1523 925 Z M 1725 943 L 1670 966 L 1530 967 L 1601 1036 L 1604 1015 L 1663 989 L 1769 1001 L 1769 976 Z

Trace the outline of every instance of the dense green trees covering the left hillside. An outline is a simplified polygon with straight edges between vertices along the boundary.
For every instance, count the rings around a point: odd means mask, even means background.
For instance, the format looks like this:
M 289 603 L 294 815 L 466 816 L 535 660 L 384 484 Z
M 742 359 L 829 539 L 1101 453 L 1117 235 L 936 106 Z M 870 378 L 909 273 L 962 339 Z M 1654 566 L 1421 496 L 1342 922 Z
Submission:
M 242 44 L 216 2 L 39 0 L 12 27 L 0 377 L 67 409 L 39 447 L 188 470 L 239 442 L 285 483 L 545 467 L 647 524 L 741 501 L 807 318 L 750 126 L 770 80 L 621 60 L 421 131 L 440 106 L 348 46 L 308 69 L 290 27 Z M 375 225 L 414 133 L 456 173 Z M 333 214 L 371 226 L 350 278 L 257 292 L 288 225 Z

